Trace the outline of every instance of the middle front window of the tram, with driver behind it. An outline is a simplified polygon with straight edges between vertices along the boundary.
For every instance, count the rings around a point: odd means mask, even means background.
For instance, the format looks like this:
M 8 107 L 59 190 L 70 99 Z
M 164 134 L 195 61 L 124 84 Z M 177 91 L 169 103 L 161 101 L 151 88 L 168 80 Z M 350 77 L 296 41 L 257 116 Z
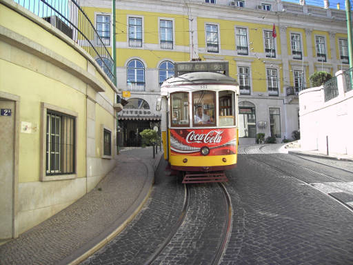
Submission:
M 216 93 L 213 91 L 197 91 L 192 93 L 194 126 L 216 125 L 215 99 Z

